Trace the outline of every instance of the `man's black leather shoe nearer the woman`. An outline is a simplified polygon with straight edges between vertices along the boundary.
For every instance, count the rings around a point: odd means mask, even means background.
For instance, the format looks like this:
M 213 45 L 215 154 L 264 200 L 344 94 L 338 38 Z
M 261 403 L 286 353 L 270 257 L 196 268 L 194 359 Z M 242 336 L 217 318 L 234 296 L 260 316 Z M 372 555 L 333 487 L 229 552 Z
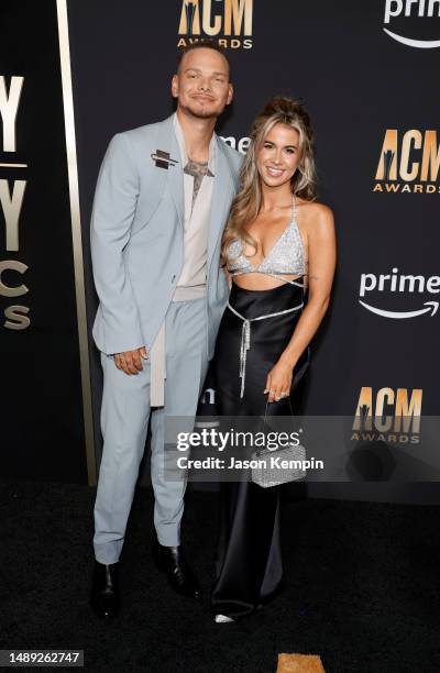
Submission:
M 156 541 L 152 551 L 157 570 L 166 573 L 172 588 L 177 594 L 189 598 L 200 597 L 200 585 L 184 556 L 182 545 L 164 547 Z

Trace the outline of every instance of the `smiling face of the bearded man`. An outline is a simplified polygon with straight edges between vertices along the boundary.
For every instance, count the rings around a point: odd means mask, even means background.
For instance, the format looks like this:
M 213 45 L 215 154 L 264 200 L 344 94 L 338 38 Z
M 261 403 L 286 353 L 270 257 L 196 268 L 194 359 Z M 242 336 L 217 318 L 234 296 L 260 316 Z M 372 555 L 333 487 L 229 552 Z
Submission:
M 172 93 L 186 114 L 199 119 L 219 117 L 233 93 L 227 59 L 216 49 L 188 52 L 173 77 Z

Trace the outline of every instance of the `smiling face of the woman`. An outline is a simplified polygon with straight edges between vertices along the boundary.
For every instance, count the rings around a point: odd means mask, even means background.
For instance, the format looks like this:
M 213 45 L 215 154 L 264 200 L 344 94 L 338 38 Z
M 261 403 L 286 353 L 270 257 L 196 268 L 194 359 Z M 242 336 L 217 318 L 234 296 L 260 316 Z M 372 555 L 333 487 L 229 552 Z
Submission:
M 256 153 L 256 167 L 267 187 L 280 187 L 294 176 L 299 164 L 299 133 L 286 124 L 275 124 Z

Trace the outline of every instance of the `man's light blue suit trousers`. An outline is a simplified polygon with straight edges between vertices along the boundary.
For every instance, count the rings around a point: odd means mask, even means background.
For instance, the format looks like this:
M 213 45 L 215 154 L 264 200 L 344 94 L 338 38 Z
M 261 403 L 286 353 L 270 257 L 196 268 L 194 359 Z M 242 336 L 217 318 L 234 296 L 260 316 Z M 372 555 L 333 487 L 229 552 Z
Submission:
M 151 409 L 151 364 L 128 375 L 112 355 L 101 352 L 103 395 L 101 430 L 103 451 L 95 503 L 95 556 L 100 563 L 119 560 L 139 466 L 144 453 L 151 415 L 151 477 L 154 489 L 154 526 L 161 544 L 180 543 L 180 521 L 187 473 L 173 481 L 164 472 L 166 417 L 185 417 L 193 428 L 198 398 L 208 368 L 206 298 L 172 301 L 165 317 L 165 406 Z

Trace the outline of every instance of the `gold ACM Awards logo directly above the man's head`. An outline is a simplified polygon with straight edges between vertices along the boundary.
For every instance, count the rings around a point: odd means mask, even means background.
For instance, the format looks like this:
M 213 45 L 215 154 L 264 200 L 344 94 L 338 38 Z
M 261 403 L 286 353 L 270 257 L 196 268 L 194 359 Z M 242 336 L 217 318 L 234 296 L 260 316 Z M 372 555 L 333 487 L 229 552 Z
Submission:
M 224 48 L 252 48 L 253 0 L 183 0 L 177 46 L 218 38 Z

